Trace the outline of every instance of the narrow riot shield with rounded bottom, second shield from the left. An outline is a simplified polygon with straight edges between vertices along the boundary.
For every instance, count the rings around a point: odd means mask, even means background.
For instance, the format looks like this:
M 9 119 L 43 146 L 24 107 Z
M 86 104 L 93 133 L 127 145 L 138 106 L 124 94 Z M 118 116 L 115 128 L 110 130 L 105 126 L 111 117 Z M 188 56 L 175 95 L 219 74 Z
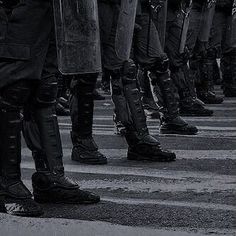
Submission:
M 138 0 L 121 0 L 117 23 L 115 50 L 121 60 L 128 60 L 132 48 Z

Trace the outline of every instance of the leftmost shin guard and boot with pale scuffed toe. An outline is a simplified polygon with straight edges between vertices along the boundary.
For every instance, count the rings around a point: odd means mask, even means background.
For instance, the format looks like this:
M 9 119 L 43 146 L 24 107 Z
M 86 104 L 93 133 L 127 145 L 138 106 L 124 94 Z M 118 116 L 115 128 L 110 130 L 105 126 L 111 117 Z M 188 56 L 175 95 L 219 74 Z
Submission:
M 1 116 L 1 176 L 0 198 L 3 212 L 35 217 L 43 214 L 41 207 L 21 181 L 21 119 L 15 109 L 0 111 Z

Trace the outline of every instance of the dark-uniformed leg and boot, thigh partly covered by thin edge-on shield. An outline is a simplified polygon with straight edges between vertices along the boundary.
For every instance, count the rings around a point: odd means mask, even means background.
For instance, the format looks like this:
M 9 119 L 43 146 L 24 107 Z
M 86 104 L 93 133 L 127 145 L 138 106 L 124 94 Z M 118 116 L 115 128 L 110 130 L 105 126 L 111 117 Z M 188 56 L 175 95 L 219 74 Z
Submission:
M 165 51 L 170 60 L 171 78 L 178 90 L 180 114 L 207 116 L 212 115 L 213 112 L 196 102 L 195 85 L 188 66 L 200 26 L 200 6 L 196 3 L 193 4 L 190 15 L 187 16 L 190 18 L 190 22 L 189 28 L 186 29 L 188 30 L 186 45 L 184 52 L 180 52 L 181 36 L 185 30 L 183 27 L 188 27 L 183 25 L 185 14 L 188 14 L 184 13 L 188 10 L 188 4 L 188 1 L 185 0 L 169 0 Z

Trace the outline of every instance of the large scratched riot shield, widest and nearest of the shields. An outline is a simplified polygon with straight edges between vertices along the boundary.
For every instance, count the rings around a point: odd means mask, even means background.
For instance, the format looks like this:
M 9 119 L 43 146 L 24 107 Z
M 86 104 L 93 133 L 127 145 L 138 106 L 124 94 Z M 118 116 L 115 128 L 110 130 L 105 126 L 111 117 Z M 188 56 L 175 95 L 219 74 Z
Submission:
M 97 0 L 54 0 L 54 18 L 60 72 L 101 72 Z

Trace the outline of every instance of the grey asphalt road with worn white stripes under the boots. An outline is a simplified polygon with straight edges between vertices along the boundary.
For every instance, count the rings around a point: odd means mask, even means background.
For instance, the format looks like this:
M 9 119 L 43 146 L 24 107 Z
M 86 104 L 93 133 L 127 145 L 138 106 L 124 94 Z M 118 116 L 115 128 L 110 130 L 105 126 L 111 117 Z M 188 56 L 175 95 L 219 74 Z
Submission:
M 219 92 L 219 91 L 218 91 Z M 196 136 L 151 134 L 177 153 L 174 163 L 128 161 L 124 138 L 114 134 L 110 98 L 96 102 L 94 136 L 106 166 L 71 161 L 70 119 L 60 117 L 67 175 L 101 195 L 96 205 L 43 205 L 42 218 L 0 214 L 0 235 L 198 236 L 236 235 L 236 99 L 211 105 L 213 117 L 186 117 Z M 23 180 L 31 187 L 34 164 L 23 149 Z

